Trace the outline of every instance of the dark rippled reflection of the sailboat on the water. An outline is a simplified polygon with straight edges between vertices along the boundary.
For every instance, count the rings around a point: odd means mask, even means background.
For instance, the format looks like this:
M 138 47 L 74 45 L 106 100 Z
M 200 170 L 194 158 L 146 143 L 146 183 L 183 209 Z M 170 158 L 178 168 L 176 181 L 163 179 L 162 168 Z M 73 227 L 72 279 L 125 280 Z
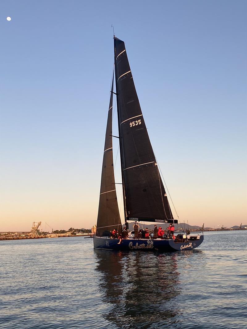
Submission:
M 95 254 L 100 289 L 110 306 L 104 315 L 106 320 L 119 328 L 142 329 L 176 323 L 180 294 L 178 254 L 106 253 L 98 249 Z

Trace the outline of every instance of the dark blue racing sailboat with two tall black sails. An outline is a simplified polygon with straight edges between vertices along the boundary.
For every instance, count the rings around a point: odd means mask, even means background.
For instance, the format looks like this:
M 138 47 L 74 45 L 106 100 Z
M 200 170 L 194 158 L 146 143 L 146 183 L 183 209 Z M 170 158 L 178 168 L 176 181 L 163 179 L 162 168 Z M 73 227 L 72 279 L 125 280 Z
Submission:
M 129 221 L 178 223 L 174 219 L 166 190 L 136 93 L 124 41 L 114 35 L 116 93 L 112 77 L 99 207 L 94 248 L 107 250 L 191 250 L 203 242 L 203 234 L 185 239 L 111 239 L 113 229 L 122 233 L 113 167 L 112 108 L 117 97 L 120 162 L 122 172 L 125 227 Z

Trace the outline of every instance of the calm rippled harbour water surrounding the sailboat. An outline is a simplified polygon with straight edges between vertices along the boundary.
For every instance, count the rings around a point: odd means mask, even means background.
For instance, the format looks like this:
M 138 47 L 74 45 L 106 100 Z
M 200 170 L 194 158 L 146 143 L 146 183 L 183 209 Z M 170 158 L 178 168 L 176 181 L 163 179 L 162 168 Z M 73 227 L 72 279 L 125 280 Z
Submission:
M 1 241 L 1 328 L 247 328 L 247 231 L 194 251 L 93 249 L 93 239 Z

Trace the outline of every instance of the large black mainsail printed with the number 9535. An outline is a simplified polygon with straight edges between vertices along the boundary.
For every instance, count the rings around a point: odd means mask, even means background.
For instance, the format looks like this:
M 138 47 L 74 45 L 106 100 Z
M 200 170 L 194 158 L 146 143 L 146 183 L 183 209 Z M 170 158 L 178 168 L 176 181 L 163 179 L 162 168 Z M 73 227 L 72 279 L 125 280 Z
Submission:
M 116 37 L 114 52 L 125 217 L 177 223 L 152 150 L 124 41 Z

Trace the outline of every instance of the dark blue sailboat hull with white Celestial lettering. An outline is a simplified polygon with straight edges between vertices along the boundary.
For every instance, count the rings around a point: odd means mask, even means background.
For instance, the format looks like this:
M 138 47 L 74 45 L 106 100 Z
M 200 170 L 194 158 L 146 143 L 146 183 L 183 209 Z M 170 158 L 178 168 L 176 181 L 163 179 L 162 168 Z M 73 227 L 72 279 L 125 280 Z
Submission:
M 203 235 L 196 240 L 187 240 L 186 242 L 175 242 L 174 240 L 161 239 L 126 239 L 118 244 L 119 239 L 109 239 L 106 237 L 94 237 L 94 248 L 105 250 L 157 250 L 170 252 L 176 250 L 192 250 L 197 248 L 203 242 Z

